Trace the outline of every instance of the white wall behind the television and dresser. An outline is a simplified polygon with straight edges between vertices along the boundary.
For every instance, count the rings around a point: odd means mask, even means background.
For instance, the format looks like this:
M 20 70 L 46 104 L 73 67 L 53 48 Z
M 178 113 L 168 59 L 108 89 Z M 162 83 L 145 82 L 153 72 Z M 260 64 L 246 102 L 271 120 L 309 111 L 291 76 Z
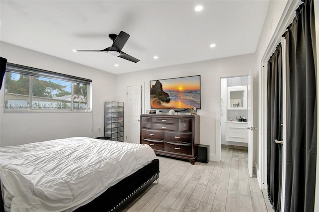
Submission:
M 151 107 L 150 80 L 201 75 L 201 109 L 197 111 L 200 115 L 200 143 L 210 145 L 210 159 L 218 160 L 220 139 L 217 143 L 216 136 L 220 136 L 220 132 L 216 132 L 216 124 L 220 123 L 220 78 L 248 75 L 254 67 L 254 54 L 248 54 L 121 74 L 117 75 L 117 97 L 126 102 L 127 86 L 142 85 L 142 110 L 145 112 Z M 125 137 L 127 127 L 124 126 Z

